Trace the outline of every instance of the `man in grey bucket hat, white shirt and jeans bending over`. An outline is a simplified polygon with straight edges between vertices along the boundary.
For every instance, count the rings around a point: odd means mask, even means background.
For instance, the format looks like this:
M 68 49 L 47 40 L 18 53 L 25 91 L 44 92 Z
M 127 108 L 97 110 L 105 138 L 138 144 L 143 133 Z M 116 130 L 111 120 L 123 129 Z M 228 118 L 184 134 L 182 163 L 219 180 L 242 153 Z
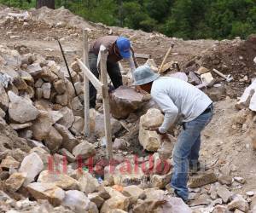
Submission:
M 171 186 L 178 197 L 187 201 L 189 165 L 199 165 L 201 130 L 212 118 L 212 101 L 192 84 L 177 78 L 160 77 L 149 66 L 139 66 L 134 72 L 134 80 L 134 85 L 150 93 L 165 113 L 163 124 L 153 130 L 165 136 L 177 120 L 183 123 L 172 153 Z

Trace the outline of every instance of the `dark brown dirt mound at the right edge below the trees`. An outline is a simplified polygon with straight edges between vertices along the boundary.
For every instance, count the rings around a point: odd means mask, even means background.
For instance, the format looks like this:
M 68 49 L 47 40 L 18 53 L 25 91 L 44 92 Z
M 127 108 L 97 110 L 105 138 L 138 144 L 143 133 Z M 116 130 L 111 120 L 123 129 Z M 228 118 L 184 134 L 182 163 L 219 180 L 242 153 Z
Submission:
M 230 96 L 236 98 L 256 76 L 256 66 L 253 62 L 255 55 L 256 37 L 252 35 L 245 41 L 240 38 L 221 41 L 212 49 L 197 55 L 186 66 L 205 66 L 210 70 L 215 68 L 226 75 L 231 74 L 234 80 L 228 84 L 233 90 Z M 219 78 L 217 74 L 213 72 L 212 74 L 215 78 Z

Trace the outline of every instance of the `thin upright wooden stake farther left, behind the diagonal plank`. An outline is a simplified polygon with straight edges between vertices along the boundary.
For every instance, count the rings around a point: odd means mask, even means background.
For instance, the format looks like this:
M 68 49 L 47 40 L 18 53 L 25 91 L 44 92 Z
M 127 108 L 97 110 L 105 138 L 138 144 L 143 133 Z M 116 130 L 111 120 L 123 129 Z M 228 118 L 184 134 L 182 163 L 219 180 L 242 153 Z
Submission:
M 83 62 L 89 67 L 88 58 L 88 32 L 83 30 L 84 45 L 83 45 Z M 90 97 L 89 97 L 89 79 L 84 72 L 84 135 L 90 136 Z

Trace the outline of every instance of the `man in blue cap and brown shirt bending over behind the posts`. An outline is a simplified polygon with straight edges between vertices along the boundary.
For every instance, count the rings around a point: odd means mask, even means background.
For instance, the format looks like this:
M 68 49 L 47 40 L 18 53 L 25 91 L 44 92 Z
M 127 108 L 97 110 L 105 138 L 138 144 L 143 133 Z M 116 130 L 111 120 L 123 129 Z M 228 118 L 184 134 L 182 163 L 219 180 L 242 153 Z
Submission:
M 113 83 L 113 88 L 117 89 L 123 85 L 122 75 L 119 69 L 118 61 L 130 59 L 131 71 L 135 70 L 134 51 L 131 48 L 131 43 L 126 37 L 106 36 L 99 37 L 96 41 L 90 44 L 89 50 L 89 66 L 90 71 L 99 78 L 99 61 L 100 61 L 100 48 L 104 46 L 108 49 L 107 71 L 109 78 Z M 90 83 L 90 108 L 96 106 L 96 89 Z

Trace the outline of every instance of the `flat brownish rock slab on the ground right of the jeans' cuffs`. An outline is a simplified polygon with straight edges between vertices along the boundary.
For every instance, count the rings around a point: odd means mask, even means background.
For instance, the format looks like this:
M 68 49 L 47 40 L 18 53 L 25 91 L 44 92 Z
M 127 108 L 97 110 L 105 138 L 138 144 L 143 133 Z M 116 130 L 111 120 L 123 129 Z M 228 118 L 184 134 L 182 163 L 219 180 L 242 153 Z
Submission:
M 208 170 L 201 175 L 192 176 L 189 179 L 188 187 L 190 188 L 202 187 L 216 181 L 218 181 L 216 174 L 212 170 Z

